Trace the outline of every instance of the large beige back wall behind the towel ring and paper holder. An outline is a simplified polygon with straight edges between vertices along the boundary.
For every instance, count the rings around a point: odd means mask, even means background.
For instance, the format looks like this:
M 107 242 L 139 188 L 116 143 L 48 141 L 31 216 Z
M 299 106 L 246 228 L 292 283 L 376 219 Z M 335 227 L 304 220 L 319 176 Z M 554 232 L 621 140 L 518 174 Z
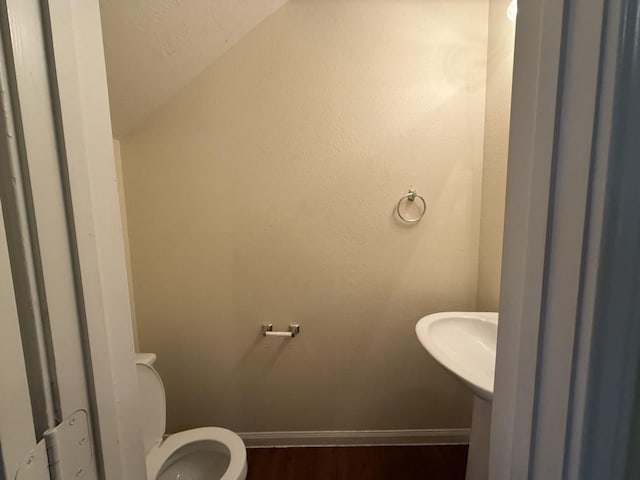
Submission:
M 414 324 L 476 307 L 487 15 L 288 3 L 123 141 L 169 431 L 469 425 L 468 390 Z M 429 210 L 407 227 L 411 185 Z

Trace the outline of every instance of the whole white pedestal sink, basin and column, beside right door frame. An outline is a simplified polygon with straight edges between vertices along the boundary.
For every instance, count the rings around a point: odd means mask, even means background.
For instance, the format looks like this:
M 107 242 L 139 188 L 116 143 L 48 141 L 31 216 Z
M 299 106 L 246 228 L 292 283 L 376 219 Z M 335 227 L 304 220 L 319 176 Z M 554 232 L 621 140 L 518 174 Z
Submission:
M 427 352 L 474 393 L 466 480 L 487 480 L 498 314 L 434 313 L 418 321 L 416 334 Z

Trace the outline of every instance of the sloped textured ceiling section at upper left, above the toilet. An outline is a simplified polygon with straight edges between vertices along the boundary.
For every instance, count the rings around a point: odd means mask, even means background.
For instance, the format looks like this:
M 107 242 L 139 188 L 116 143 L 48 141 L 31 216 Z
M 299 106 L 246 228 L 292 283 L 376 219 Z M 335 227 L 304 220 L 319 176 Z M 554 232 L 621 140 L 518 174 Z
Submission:
M 114 136 L 126 136 L 286 1 L 100 0 Z

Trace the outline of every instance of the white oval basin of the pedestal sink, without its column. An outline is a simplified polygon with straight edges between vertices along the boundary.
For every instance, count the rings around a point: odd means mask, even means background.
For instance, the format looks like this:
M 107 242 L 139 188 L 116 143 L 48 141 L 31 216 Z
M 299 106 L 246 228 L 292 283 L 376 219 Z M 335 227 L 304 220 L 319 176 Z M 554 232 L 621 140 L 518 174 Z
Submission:
M 480 398 L 493 399 L 497 313 L 434 313 L 418 321 L 416 334 L 438 363 Z

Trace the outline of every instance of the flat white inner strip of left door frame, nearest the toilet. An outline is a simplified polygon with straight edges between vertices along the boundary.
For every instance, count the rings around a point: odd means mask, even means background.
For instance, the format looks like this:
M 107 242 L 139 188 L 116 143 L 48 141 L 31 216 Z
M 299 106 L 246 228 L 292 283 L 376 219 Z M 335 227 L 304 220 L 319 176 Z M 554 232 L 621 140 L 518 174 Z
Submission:
M 50 0 L 49 22 L 105 476 L 138 480 L 145 452 L 98 1 Z

